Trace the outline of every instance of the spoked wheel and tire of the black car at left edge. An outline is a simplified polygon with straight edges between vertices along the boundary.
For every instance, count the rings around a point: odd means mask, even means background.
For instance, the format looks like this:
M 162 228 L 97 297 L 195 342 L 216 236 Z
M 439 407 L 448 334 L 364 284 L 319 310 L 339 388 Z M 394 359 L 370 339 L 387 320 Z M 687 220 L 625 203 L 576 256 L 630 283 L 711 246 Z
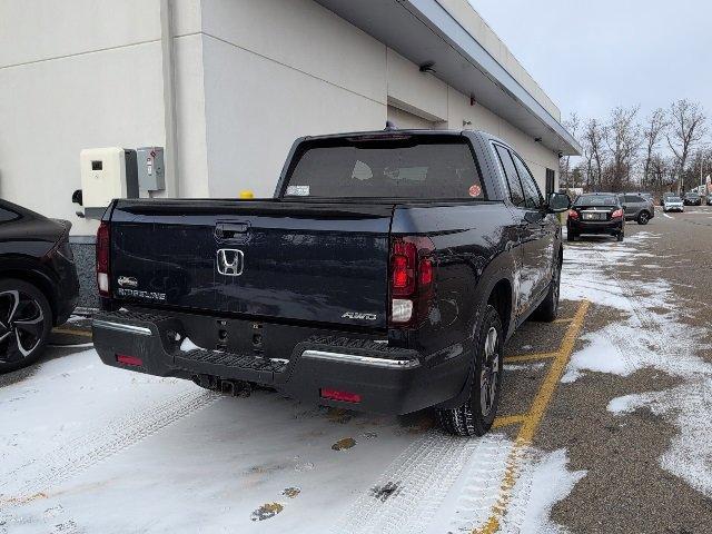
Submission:
M 0 281 L 0 374 L 33 364 L 52 329 L 42 291 L 23 280 Z

